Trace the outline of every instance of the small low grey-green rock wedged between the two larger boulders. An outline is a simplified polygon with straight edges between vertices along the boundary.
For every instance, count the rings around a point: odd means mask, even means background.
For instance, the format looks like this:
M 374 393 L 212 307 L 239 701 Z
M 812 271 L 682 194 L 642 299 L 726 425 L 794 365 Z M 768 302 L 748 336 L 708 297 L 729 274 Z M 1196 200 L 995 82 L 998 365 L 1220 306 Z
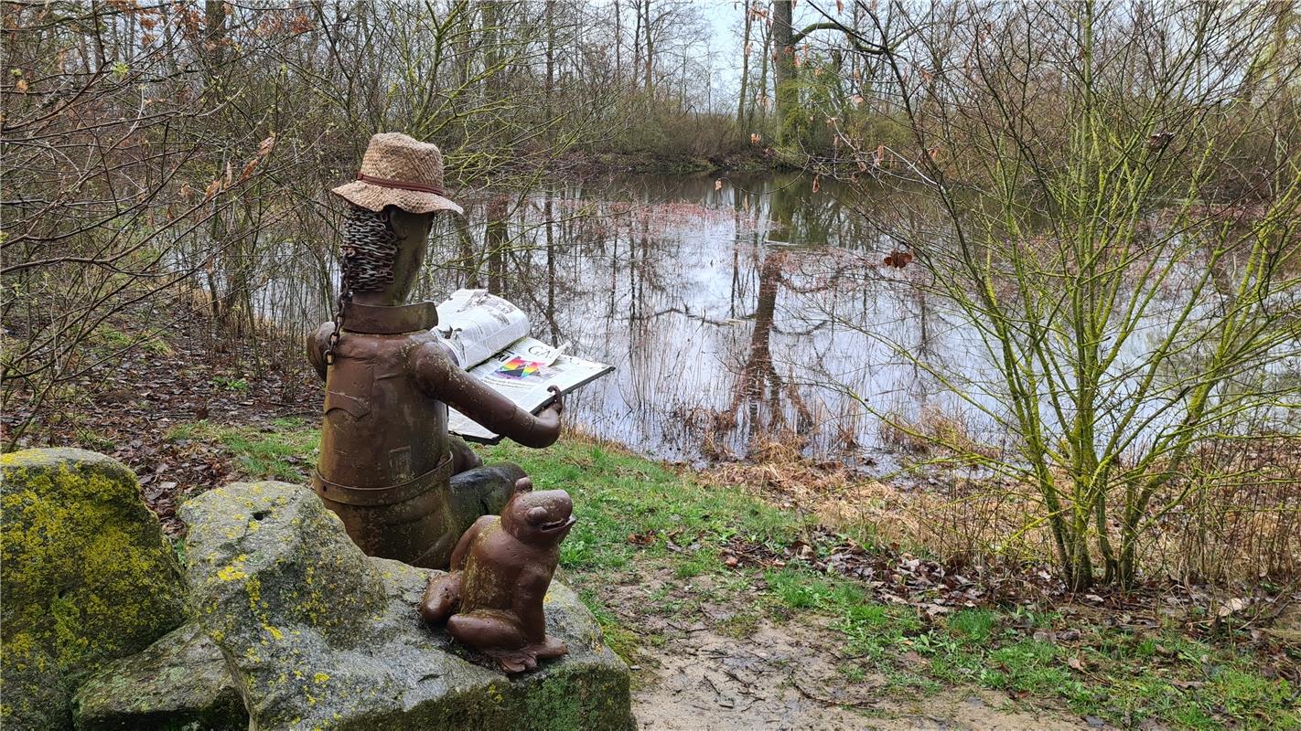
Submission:
M 77 691 L 81 731 L 243 731 L 248 712 L 221 650 L 196 622 L 114 660 Z

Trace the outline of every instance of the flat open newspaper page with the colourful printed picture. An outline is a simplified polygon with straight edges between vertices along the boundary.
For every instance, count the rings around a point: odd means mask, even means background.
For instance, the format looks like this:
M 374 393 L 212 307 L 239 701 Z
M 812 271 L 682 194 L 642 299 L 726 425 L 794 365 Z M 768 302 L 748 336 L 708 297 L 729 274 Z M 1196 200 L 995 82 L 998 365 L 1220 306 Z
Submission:
M 536 414 L 556 397 L 552 386 L 561 393 L 574 391 L 614 370 L 614 366 L 566 356 L 557 348 L 533 338 L 520 338 L 485 362 L 470 369 L 470 375 L 489 388 L 503 393 L 519 408 Z M 468 417 L 448 409 L 448 431 L 470 441 L 496 444 L 501 435 L 485 428 Z

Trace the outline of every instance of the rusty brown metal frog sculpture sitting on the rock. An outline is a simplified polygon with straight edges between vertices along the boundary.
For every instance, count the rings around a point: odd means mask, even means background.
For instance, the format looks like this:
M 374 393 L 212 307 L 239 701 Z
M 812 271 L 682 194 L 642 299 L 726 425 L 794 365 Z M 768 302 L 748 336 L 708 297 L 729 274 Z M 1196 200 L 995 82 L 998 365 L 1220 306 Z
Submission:
M 429 580 L 420 614 L 432 625 L 446 622 L 453 638 L 506 673 L 567 653 L 563 641 L 546 636 L 543 597 L 572 510 L 563 489 L 533 492 L 528 478 L 516 482 L 501 517 L 484 515 L 461 536 L 451 571 Z

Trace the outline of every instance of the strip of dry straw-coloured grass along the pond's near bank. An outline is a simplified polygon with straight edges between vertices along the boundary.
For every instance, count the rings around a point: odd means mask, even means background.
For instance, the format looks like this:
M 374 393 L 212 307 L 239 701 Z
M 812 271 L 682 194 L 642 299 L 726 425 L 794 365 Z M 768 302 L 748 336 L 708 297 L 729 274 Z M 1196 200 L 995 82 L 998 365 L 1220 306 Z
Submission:
M 941 470 L 916 483 L 885 484 L 837 462 L 807 460 L 779 439 L 752 445 L 752 456 L 753 462 L 717 465 L 703 478 L 743 486 L 838 532 L 945 561 L 1054 560 L 1032 484 Z M 1181 504 L 1147 518 L 1150 538 L 1138 556 L 1147 576 L 1196 583 L 1301 578 L 1301 439 L 1209 445 L 1180 473 L 1172 489 Z M 1110 499 L 1121 501 L 1123 487 Z

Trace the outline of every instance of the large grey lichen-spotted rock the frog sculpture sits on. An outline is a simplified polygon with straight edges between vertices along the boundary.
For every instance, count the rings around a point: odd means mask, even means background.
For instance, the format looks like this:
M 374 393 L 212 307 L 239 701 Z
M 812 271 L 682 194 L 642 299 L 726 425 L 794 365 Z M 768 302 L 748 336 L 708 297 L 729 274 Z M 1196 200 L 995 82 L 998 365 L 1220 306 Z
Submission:
M 429 573 L 366 557 L 308 489 L 237 483 L 190 500 L 187 578 L 255 728 L 632 728 L 628 671 L 571 591 L 570 654 L 518 678 L 471 663 L 416 612 Z

